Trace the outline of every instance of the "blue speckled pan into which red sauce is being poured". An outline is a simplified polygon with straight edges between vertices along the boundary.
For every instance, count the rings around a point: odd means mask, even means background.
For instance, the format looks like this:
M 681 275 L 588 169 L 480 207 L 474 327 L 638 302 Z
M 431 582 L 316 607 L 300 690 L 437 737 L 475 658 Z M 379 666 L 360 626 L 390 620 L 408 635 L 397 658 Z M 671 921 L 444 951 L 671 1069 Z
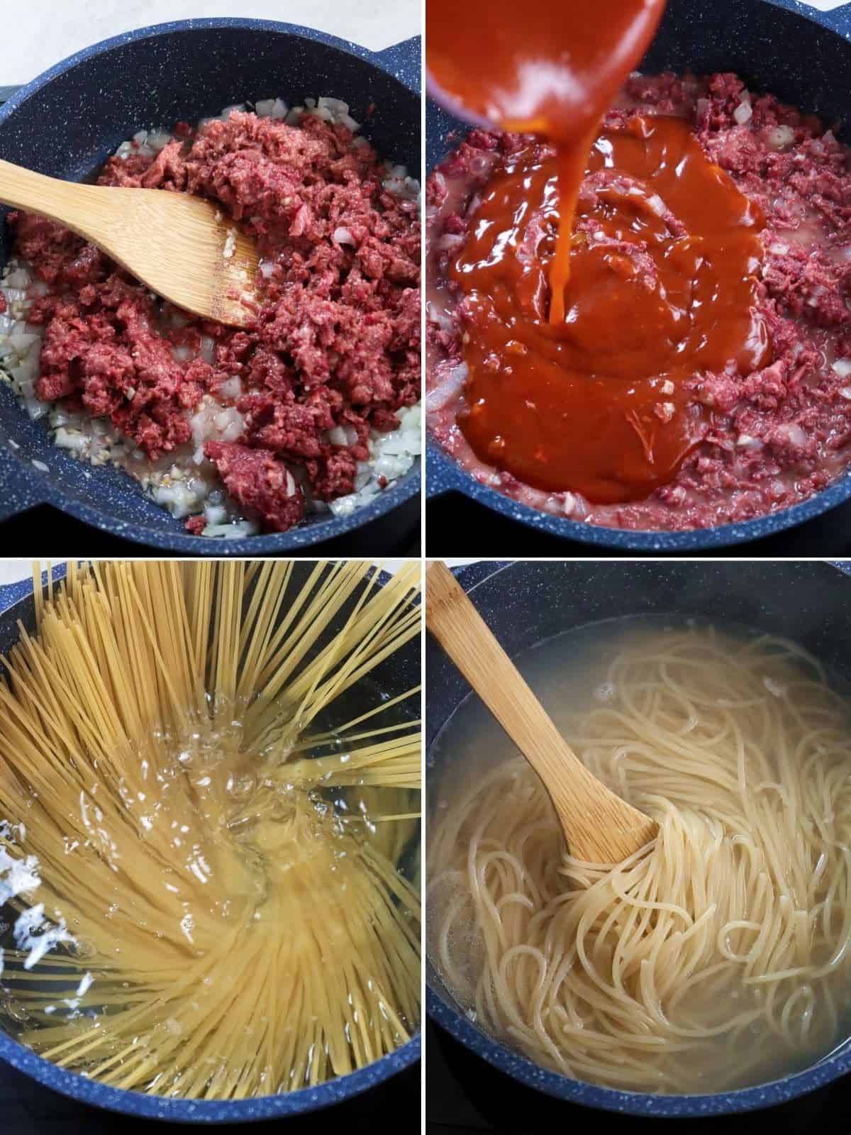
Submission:
M 829 9 L 829 10 L 824 10 Z M 851 3 L 845 0 L 668 0 L 650 51 L 648 74 L 733 70 L 750 90 L 766 91 L 827 124 L 842 123 L 851 143 Z M 431 170 L 466 127 L 432 100 L 426 112 L 426 168 Z M 454 138 L 447 135 L 456 132 Z M 457 491 L 538 531 L 597 547 L 682 553 L 723 548 L 772 536 L 851 499 L 851 472 L 823 493 L 770 516 L 693 532 L 629 532 L 553 516 L 480 485 L 433 442 L 427 444 L 427 496 Z M 522 545 L 521 545 L 522 549 Z

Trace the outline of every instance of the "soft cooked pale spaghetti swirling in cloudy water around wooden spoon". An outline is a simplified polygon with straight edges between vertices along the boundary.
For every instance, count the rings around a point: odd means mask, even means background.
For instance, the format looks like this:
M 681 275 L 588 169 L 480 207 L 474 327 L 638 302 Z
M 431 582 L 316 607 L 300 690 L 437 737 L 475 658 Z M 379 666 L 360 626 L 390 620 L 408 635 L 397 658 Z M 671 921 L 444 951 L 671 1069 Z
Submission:
M 803 1068 L 850 1031 L 848 701 L 781 639 L 610 634 L 596 664 L 568 634 L 530 666 L 658 839 L 581 863 L 522 758 L 448 775 L 429 831 L 433 960 L 482 1028 L 578 1079 L 702 1093 Z M 441 739 L 456 765 L 492 755 L 471 722 L 462 708 Z

